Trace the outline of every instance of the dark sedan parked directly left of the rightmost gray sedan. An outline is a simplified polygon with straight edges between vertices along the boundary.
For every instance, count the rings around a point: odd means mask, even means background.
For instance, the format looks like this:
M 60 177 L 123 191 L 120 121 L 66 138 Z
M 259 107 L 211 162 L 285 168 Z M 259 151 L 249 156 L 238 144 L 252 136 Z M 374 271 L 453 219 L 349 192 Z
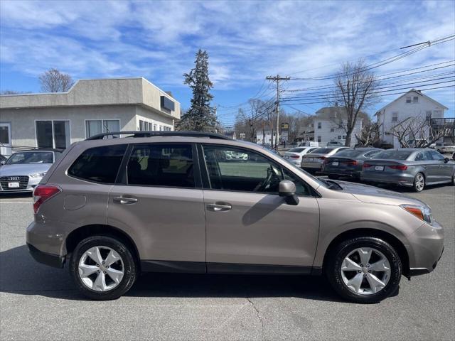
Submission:
M 370 160 L 375 155 L 380 153 L 379 148 L 353 148 L 343 149 L 335 155 L 326 158 L 323 165 L 323 175 L 328 175 L 328 178 L 353 178 L 360 180 L 362 173 L 363 162 Z

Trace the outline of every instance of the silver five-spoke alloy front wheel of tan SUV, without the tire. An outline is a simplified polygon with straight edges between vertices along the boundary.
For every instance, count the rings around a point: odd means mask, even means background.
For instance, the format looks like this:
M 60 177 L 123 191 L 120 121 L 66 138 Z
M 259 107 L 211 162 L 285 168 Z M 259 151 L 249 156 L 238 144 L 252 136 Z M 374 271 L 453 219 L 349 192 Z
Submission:
M 343 259 L 341 277 L 350 291 L 371 295 L 378 293 L 389 283 L 390 264 L 381 251 L 360 247 Z

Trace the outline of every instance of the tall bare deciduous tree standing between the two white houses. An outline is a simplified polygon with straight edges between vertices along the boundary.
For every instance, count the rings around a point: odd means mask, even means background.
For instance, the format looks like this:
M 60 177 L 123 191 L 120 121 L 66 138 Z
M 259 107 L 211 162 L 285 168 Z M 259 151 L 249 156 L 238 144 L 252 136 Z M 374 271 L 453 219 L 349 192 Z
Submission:
M 375 90 L 379 83 L 374 72 L 368 70 L 363 60 L 358 60 L 355 64 L 343 63 L 334 82 L 335 90 L 328 98 L 328 102 L 332 105 L 341 103 L 346 109 L 346 119 L 340 121 L 340 124 L 346 131 L 345 146 L 350 146 L 358 115 L 378 102 Z

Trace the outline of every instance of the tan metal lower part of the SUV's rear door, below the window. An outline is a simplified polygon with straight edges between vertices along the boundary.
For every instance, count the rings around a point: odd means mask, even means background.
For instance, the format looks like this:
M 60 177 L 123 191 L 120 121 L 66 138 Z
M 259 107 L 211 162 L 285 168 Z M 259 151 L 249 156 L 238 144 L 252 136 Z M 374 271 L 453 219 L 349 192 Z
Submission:
M 116 197 L 137 202 L 119 204 Z M 201 189 L 114 185 L 107 223 L 127 232 L 141 260 L 205 262 L 205 217 Z

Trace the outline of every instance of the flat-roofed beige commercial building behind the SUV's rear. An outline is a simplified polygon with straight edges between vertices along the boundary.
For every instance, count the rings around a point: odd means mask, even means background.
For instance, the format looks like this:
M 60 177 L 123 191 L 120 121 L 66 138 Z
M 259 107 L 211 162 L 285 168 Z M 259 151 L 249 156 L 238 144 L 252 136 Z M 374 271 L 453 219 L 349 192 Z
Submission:
M 0 153 L 66 148 L 109 131 L 173 130 L 180 103 L 148 80 L 79 80 L 68 92 L 0 96 Z

